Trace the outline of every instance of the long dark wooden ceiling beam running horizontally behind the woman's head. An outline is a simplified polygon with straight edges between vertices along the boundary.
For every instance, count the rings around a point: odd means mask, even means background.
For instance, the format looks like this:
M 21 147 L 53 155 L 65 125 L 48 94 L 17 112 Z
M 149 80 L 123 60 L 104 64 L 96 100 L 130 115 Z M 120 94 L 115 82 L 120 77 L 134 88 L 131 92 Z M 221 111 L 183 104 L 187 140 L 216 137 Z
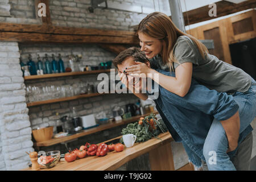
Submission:
M 0 23 L 0 40 L 24 43 L 139 43 L 138 37 L 132 31 L 17 23 Z

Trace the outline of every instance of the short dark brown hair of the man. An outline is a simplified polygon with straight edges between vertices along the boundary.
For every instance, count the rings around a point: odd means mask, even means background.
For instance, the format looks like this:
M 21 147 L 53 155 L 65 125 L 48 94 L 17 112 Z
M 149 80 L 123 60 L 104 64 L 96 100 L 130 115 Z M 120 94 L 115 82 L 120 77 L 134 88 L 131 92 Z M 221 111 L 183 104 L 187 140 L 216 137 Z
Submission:
M 130 47 L 126 49 L 125 51 L 122 51 L 119 53 L 117 57 L 113 60 L 114 66 L 117 68 L 118 64 L 122 64 L 125 59 L 128 57 L 133 57 L 134 61 L 140 61 L 142 63 L 145 63 L 148 61 L 146 55 L 144 52 L 141 51 L 138 47 Z

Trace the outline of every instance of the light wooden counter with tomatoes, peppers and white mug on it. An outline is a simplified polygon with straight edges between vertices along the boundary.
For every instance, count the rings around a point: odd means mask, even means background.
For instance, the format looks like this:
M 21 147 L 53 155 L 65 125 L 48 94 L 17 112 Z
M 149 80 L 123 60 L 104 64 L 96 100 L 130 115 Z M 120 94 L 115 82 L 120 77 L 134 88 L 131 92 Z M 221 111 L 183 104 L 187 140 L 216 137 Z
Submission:
M 55 167 L 41 169 L 40 171 L 104 171 L 115 170 L 127 163 L 129 160 L 149 152 L 151 170 L 174 170 L 172 158 L 171 141 L 169 132 L 161 133 L 160 139 L 152 138 L 142 143 L 135 143 L 133 147 L 126 148 L 122 152 L 109 152 L 105 156 L 88 156 L 74 162 L 59 162 Z M 117 137 L 117 138 L 121 138 Z M 117 139 L 114 138 L 114 139 Z M 114 140 L 112 139 L 112 140 Z M 110 140 L 106 141 L 109 142 Z M 31 168 L 23 169 L 30 171 Z

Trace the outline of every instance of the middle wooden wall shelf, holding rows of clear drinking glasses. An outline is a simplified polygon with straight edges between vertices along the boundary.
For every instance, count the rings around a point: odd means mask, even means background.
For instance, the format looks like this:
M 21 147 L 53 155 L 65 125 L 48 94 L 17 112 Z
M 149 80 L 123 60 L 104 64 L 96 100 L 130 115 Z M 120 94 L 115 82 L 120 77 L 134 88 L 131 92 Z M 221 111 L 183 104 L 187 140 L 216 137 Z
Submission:
M 55 98 L 55 99 L 46 100 L 46 101 L 28 102 L 27 107 L 38 106 L 38 105 L 43 105 L 43 104 L 51 104 L 51 103 L 55 103 L 55 102 L 71 101 L 71 100 L 76 100 L 79 98 L 96 97 L 96 96 L 101 96 L 104 94 L 105 93 L 90 93 L 90 94 L 82 94 L 82 95 L 73 96 L 73 97 Z

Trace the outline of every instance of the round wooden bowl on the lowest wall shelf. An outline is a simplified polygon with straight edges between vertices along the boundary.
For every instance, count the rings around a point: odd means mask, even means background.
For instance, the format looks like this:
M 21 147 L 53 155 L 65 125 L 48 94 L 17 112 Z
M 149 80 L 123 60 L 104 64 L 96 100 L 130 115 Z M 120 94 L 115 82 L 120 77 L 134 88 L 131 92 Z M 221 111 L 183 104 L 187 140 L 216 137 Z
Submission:
M 32 130 L 32 134 L 36 142 L 43 142 L 49 140 L 53 136 L 53 126 L 44 127 L 43 129 L 39 130 Z

